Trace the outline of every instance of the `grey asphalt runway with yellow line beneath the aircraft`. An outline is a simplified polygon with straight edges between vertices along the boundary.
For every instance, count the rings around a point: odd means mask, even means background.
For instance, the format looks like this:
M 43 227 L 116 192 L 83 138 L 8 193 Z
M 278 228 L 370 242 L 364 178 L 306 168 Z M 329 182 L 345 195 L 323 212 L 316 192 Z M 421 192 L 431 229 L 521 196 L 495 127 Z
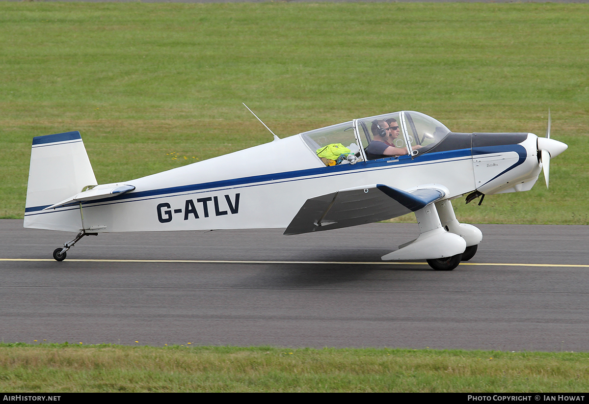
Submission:
M 444 272 L 380 261 L 416 224 L 107 233 L 60 263 L 75 234 L 0 220 L 0 338 L 589 352 L 589 226 L 478 226 Z

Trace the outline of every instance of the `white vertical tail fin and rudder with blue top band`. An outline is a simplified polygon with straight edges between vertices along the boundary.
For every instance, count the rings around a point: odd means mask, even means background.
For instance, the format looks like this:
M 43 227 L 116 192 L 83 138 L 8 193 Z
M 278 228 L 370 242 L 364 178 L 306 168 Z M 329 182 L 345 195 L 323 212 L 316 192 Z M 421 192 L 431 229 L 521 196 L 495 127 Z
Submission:
M 52 223 L 57 220 L 56 215 L 40 211 L 89 185 L 97 182 L 80 132 L 34 137 L 24 226 L 62 230 L 58 223 Z

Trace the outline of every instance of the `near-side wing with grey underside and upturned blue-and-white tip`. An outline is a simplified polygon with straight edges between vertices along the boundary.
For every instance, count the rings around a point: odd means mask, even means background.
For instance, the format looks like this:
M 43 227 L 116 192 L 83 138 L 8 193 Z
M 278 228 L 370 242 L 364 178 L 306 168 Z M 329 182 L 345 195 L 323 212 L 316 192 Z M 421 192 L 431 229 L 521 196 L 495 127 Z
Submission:
M 348 188 L 307 199 L 284 234 L 341 229 L 387 220 L 419 210 L 446 195 L 448 189 L 439 184 L 406 191 L 382 184 Z

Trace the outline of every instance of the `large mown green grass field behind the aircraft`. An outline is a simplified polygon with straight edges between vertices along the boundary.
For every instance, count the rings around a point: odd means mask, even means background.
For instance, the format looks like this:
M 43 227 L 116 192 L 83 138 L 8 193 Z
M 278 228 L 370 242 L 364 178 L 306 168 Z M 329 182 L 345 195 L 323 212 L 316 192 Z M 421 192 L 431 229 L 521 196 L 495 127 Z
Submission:
M 587 4 L 0 2 L 0 218 L 23 217 L 34 136 L 79 130 L 125 181 L 272 140 L 246 102 L 280 137 L 403 109 L 544 135 L 550 107 L 550 190 L 456 214 L 589 224 L 587 38 Z

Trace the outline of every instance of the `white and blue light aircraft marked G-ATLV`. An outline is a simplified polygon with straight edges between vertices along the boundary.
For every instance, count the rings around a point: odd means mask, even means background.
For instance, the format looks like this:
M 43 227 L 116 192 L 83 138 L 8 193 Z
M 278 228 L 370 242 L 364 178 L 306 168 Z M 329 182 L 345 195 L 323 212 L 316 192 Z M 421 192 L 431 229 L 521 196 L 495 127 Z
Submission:
M 391 142 L 382 155 L 369 148 L 379 140 Z M 530 190 L 542 168 L 548 186 L 550 158 L 566 149 L 550 138 L 550 115 L 546 137 L 537 137 L 453 133 L 428 115 L 400 111 L 274 134 L 246 150 L 98 185 L 79 132 L 38 136 L 24 227 L 77 231 L 55 249 L 62 261 L 82 237 L 109 231 L 286 227 L 289 235 L 413 212 L 419 236 L 382 259 L 452 270 L 474 256 L 482 233 L 456 220 L 451 200 Z

